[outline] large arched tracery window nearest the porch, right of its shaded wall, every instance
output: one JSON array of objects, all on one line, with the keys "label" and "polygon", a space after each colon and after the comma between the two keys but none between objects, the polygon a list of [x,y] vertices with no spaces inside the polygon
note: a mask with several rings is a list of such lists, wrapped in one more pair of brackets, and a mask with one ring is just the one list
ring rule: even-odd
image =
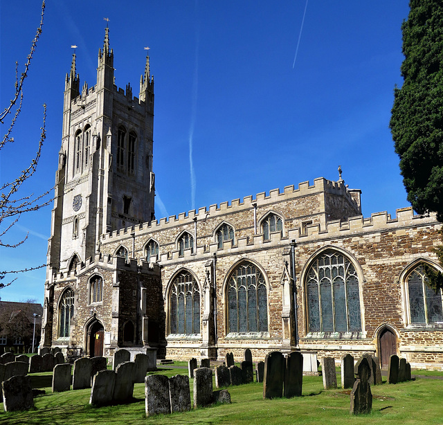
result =
[{"label": "large arched tracery window nearest the porch, right of its shaded wall", "polygon": [[200,290],[194,277],[182,271],[172,283],[169,298],[171,334],[200,333]]}]

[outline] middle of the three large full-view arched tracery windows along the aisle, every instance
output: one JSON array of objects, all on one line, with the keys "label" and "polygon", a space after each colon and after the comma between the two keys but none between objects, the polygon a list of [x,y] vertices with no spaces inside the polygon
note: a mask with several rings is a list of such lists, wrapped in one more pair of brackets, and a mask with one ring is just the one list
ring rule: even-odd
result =
[{"label": "middle of the three large full-view arched tracery windows along the aisle", "polygon": [[267,332],[266,282],[251,262],[242,262],[228,279],[229,332]]}]

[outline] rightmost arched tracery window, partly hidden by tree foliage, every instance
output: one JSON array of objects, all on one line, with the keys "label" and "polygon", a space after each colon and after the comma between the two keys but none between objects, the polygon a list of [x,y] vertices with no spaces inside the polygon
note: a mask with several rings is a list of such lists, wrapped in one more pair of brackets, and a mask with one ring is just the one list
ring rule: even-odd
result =
[{"label": "rightmost arched tracery window, partly hidden by tree foliage", "polygon": [[406,279],[410,323],[443,322],[442,291],[435,292],[428,287],[427,280],[422,265],[413,269]]}]

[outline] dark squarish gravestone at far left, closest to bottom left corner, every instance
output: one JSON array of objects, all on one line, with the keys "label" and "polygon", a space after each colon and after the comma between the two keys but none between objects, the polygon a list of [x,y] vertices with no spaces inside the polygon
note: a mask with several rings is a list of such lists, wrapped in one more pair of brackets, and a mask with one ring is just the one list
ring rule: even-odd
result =
[{"label": "dark squarish gravestone at far left, closest to bottom left corner", "polygon": [[3,388],[3,407],[6,412],[29,410],[34,407],[30,377],[11,377],[3,381],[1,387]]}]

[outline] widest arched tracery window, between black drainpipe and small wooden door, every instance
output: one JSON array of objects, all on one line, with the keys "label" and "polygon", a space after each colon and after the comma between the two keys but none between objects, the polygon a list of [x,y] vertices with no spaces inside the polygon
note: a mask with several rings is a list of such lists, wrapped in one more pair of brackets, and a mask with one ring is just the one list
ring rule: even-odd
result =
[{"label": "widest arched tracery window, between black drainpipe and small wooden door", "polygon": [[359,332],[359,277],[354,265],[332,249],[318,255],[306,279],[309,332]]}]

